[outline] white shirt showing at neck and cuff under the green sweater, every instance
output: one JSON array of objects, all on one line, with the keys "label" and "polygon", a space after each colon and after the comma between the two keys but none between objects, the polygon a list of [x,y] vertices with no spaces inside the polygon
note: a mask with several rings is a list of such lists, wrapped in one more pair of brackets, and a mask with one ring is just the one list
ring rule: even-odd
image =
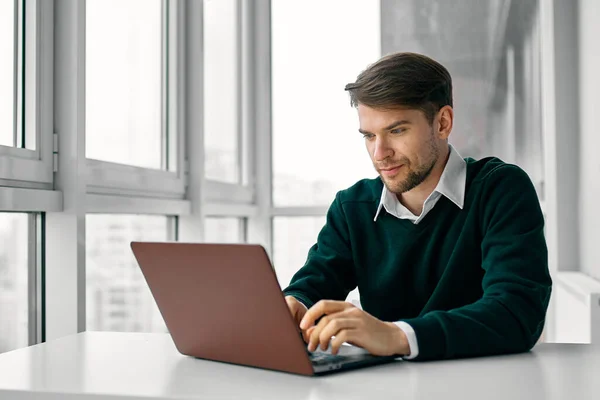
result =
[{"label": "white shirt showing at neck and cuff under the green sweater", "polygon": [[[429,197],[427,197],[425,203],[423,203],[421,214],[414,215],[408,208],[400,203],[400,200],[398,200],[398,197],[396,197],[394,193],[387,190],[387,187],[383,185],[381,200],[379,201],[377,213],[375,214],[373,221],[377,221],[381,209],[384,208],[390,215],[393,215],[396,218],[408,219],[413,221],[414,224],[418,224],[425,218],[427,213],[433,209],[442,195],[446,196],[448,200],[452,201],[462,210],[465,202],[465,188],[467,185],[467,163],[452,145],[449,145],[449,147],[450,155],[448,157],[448,162],[446,162],[446,166],[444,167],[444,171],[442,172],[442,176],[440,177],[437,186],[433,192],[431,192]],[[399,321],[395,324],[404,331],[408,340],[410,354],[404,358],[411,360],[417,357],[419,355],[419,343],[414,329],[404,321]]]}]

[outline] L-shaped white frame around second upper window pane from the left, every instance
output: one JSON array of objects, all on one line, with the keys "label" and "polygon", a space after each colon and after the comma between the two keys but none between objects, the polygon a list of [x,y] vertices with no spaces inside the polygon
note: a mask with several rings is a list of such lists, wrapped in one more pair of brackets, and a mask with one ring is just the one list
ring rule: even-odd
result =
[{"label": "L-shaped white frame around second upper window pane from the left", "polygon": [[[163,0],[163,170],[86,159],[87,192],[153,198],[183,199],[186,192],[186,162],[184,158],[184,35],[183,2]],[[83,21],[85,33],[85,21]],[[83,58],[85,64],[85,57]],[[168,101],[167,101],[168,98]],[[167,134],[168,132],[168,134]],[[168,139],[168,143],[166,140]],[[166,154],[167,148],[169,154]],[[172,160],[175,158],[176,162]],[[167,160],[168,164],[167,165]],[[172,169],[175,169],[174,171]]]}]

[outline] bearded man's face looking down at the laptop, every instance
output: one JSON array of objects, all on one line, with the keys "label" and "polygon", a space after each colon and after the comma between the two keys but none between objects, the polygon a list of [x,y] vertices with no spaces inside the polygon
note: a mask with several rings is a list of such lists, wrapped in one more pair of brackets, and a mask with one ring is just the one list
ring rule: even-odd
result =
[{"label": "bearded man's face looking down at the laptop", "polygon": [[373,166],[388,190],[408,192],[429,176],[441,145],[422,111],[359,104],[358,119]]}]

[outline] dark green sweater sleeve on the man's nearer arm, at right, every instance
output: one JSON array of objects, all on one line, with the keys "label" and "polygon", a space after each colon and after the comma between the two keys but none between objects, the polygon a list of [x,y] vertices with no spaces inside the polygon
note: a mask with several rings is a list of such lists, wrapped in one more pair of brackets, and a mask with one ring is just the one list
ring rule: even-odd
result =
[{"label": "dark green sweater sleeve on the man's nearer arm, at right", "polygon": [[404,320],[419,340],[416,360],[522,352],[541,335],[552,281],[533,184],[519,167],[498,167],[486,178],[480,204],[483,296]]}]

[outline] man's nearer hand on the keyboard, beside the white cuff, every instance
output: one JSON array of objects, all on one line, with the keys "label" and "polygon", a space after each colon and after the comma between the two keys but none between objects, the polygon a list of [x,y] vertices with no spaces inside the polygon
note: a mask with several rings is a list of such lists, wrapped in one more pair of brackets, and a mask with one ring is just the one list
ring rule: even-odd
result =
[{"label": "man's nearer hand on the keyboard, beside the white cuff", "polygon": [[[323,318],[314,325],[321,316]],[[300,328],[307,332],[310,351],[319,345],[326,350],[331,342],[331,352],[337,354],[342,343],[348,342],[376,356],[410,353],[406,335],[395,324],[381,321],[343,301],[319,301],[305,313]],[[333,340],[332,336],[335,336]]]}]

